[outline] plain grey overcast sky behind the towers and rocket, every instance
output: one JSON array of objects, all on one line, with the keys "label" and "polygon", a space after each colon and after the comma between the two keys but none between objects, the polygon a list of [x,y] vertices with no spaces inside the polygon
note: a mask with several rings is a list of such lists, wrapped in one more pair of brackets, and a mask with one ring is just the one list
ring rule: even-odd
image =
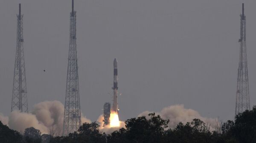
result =
[{"label": "plain grey overcast sky behind the towers and rocket", "polygon": [[[117,58],[122,120],[174,104],[205,117],[233,119],[243,2],[253,106],[256,0],[75,0],[81,112],[95,121],[103,104],[112,102]],[[71,0],[0,0],[0,112],[5,115],[11,110],[18,3],[24,14],[29,110],[41,101],[65,99]]]}]

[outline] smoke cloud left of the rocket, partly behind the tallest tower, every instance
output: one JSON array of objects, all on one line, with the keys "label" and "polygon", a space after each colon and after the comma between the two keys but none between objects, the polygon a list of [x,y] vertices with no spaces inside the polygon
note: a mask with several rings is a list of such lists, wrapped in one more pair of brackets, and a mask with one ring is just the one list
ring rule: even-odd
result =
[{"label": "smoke cloud left of the rocket, partly behind the tallest tower", "polygon": [[[35,104],[31,113],[13,111],[9,117],[0,114],[0,121],[11,129],[23,132],[24,129],[33,126],[42,134],[61,135],[64,118],[64,105],[60,101],[44,101]],[[81,115],[82,123],[91,121]]]}]

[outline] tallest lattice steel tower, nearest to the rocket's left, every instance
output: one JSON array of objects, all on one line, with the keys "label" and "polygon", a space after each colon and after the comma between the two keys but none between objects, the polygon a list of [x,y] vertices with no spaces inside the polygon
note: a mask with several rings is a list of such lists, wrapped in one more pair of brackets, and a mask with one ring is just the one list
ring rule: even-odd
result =
[{"label": "tallest lattice steel tower, nearest to the rocket's left", "polygon": [[74,11],[74,0],[72,0],[63,135],[68,135],[71,132],[77,131],[80,126],[81,111],[76,55],[76,11]]}]

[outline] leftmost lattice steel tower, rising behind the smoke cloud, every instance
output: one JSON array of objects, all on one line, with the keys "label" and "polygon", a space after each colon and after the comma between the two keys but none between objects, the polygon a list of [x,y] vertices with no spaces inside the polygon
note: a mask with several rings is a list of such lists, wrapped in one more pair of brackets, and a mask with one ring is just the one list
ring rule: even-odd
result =
[{"label": "leftmost lattice steel tower, rising behind the smoke cloud", "polygon": [[19,4],[11,112],[16,109],[20,112],[28,112],[23,42],[23,14],[21,14],[21,5]]}]

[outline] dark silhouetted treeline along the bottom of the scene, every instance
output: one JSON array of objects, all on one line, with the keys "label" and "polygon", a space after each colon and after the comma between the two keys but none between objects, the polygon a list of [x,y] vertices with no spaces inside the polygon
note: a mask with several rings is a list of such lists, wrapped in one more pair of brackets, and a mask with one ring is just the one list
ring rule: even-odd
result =
[{"label": "dark silhouetted treeline along the bottom of the scene", "polygon": [[106,135],[99,131],[95,122],[84,123],[78,132],[66,137],[41,135],[38,129],[27,128],[24,134],[9,129],[0,122],[1,143],[256,143],[256,107],[236,116],[210,131],[199,119],[179,123],[175,129],[168,128],[168,120],[149,114],[125,121],[125,128]]}]

